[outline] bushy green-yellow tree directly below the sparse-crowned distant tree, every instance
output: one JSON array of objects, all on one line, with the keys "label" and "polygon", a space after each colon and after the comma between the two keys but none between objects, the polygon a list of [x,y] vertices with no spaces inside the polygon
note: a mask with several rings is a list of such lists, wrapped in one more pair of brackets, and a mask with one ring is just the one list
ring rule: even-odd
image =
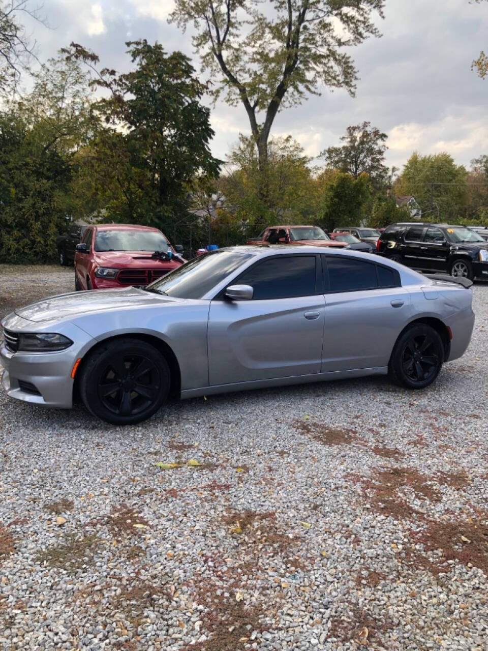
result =
[{"label": "bushy green-yellow tree directly below the sparse-crowned distant tree", "polygon": [[328,232],[340,226],[357,226],[370,202],[371,187],[367,174],[352,174],[332,169],[318,176],[321,197],[318,216]]}]

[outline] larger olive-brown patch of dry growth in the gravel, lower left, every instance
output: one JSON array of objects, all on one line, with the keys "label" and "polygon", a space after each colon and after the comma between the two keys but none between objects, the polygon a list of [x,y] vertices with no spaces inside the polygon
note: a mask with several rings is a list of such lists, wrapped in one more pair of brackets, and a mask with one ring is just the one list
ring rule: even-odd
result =
[{"label": "larger olive-brown patch of dry growth in the gravel, lower left", "polygon": [[61,545],[41,551],[36,562],[46,563],[51,568],[80,570],[84,566],[93,564],[94,557],[102,546],[103,542],[96,534],[88,534],[81,538],[75,534],[67,534]]}]

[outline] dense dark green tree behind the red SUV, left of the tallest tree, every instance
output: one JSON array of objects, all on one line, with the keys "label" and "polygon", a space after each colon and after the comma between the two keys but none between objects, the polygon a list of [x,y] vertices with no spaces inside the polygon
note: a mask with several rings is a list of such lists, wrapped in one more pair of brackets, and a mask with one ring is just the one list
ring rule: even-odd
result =
[{"label": "dense dark green tree behind the red SUV, left of the tallest tree", "polygon": [[205,87],[181,52],[158,43],[126,43],[135,70],[98,71],[98,57],[77,44],[68,61],[85,61],[94,84],[108,96],[94,104],[106,128],[92,143],[90,170],[106,179],[107,217],[161,227],[184,214],[195,177],[215,178],[210,110],[200,103]]}]

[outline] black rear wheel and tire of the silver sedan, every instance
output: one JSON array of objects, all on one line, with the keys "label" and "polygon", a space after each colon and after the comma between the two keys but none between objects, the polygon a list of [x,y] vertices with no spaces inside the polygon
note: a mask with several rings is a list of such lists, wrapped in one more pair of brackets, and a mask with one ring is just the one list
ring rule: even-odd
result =
[{"label": "black rear wheel and tire of the silver sedan", "polygon": [[407,389],[424,389],[437,378],[443,363],[444,346],[437,330],[413,324],[396,340],[388,368],[396,383]]}]

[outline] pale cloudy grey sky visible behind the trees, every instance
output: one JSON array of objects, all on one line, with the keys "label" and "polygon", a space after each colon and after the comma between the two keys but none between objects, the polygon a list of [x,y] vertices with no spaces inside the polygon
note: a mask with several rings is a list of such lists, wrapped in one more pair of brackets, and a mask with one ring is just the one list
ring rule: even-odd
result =
[{"label": "pale cloudy grey sky visible behind the trees", "polygon": [[[124,70],[124,42],[158,40],[165,49],[195,57],[191,36],[167,23],[172,0],[44,0],[49,29],[29,25],[45,60],[71,41],[93,49],[103,66]],[[401,167],[413,152],[448,151],[469,165],[488,154],[488,78],[470,70],[488,50],[488,2],[386,0],[382,38],[353,51],[359,70],[355,98],[324,89],[299,107],[280,113],[274,135],[292,135],[309,156],[339,143],[350,124],[369,120],[388,133],[388,165]],[[195,57],[195,67],[200,66]],[[249,133],[241,107],[212,110],[213,153],[224,158],[239,132]]]}]

